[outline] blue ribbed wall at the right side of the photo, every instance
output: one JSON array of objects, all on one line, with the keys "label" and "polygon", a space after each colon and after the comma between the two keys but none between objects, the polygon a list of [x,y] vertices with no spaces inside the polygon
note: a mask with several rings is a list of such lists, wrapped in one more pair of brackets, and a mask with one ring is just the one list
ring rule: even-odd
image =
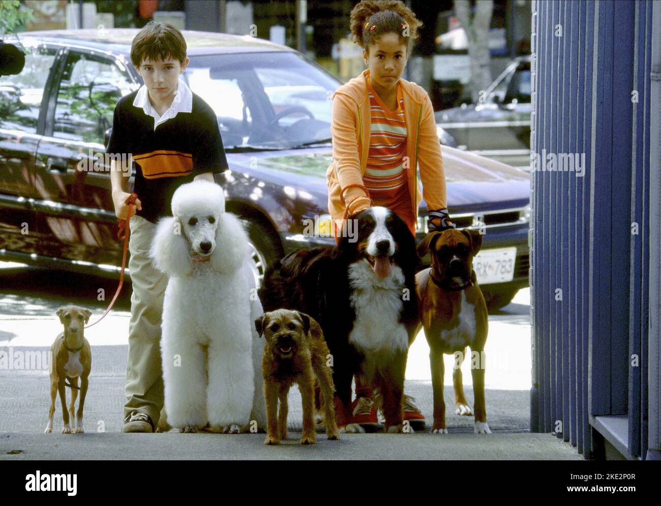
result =
[{"label": "blue ribbed wall at the right side of the photo", "polygon": [[537,1],[532,26],[531,150],[585,166],[531,171],[531,430],[593,457],[621,415],[644,458],[652,1]]}]

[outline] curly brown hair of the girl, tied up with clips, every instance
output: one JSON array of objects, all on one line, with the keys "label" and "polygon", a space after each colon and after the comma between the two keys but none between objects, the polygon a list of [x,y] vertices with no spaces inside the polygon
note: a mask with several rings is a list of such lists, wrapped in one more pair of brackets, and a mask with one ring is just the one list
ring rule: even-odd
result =
[{"label": "curly brown hair of the girl, tied up with clips", "polygon": [[377,38],[394,33],[406,44],[408,54],[410,42],[418,36],[420,26],[422,22],[399,0],[363,0],[351,11],[354,42],[366,51]]}]

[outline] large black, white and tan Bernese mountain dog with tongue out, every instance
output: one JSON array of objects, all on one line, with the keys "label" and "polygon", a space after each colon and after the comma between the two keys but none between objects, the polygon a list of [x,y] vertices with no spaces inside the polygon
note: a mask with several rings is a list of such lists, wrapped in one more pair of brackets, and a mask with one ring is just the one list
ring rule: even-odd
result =
[{"label": "large black, white and tan Bernese mountain dog with tongue out", "polygon": [[276,261],[259,296],[265,312],[295,309],[321,325],[332,356],[338,426],[350,421],[356,374],[383,399],[386,431],[402,431],[408,346],[419,321],[416,243],[388,208],[374,206],[350,219],[357,220],[357,234]]}]

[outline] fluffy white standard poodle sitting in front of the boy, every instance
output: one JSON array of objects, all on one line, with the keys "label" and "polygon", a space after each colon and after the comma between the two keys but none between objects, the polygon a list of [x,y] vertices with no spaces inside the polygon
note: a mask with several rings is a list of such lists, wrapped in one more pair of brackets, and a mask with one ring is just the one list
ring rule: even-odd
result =
[{"label": "fluffy white standard poodle sitting in front of the boy", "polygon": [[[169,276],[161,354],[167,424],[181,432],[239,433],[265,427],[261,348],[253,322],[262,305],[248,236],[225,212],[223,189],[193,181],[176,189],[173,217],[159,220],[151,245]],[[159,424],[160,425],[160,424]]]}]

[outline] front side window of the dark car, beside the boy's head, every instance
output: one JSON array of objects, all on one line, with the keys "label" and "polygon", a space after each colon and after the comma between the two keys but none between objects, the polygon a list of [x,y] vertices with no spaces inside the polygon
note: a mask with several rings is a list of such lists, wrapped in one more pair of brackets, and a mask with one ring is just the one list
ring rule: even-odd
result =
[{"label": "front side window of the dark car, beside the boy's head", "polygon": [[59,82],[54,137],[102,144],[117,101],[136,87],[118,62],[69,53]]}]

